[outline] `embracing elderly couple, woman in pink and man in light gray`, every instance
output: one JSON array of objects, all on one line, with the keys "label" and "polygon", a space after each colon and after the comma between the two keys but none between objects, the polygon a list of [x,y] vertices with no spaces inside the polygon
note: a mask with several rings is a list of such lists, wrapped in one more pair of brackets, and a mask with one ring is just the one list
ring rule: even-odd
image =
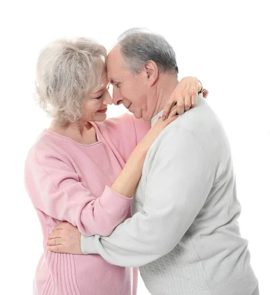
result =
[{"label": "embracing elderly couple, woman in pink and man in light gray", "polygon": [[[36,295],[259,295],[240,236],[226,133],[173,48],[141,29],[105,47],[46,46],[40,106],[51,117],[25,183],[43,232]],[[113,98],[108,92],[113,86]],[[109,104],[131,113],[106,119]]]}]

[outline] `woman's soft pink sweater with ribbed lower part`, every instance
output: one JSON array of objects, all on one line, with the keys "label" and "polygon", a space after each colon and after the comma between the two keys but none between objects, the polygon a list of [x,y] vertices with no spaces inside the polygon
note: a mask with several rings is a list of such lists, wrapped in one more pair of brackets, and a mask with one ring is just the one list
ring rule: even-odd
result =
[{"label": "woman's soft pink sweater with ribbed lower part", "polygon": [[[110,189],[150,124],[125,114],[93,123],[97,142],[82,145],[52,131],[41,133],[26,159],[25,183],[43,232],[35,295],[135,295],[137,269],[113,266],[99,255],[48,250],[60,221],[81,233],[109,236],[130,214],[131,199]],[[132,285],[133,281],[133,285]]]}]

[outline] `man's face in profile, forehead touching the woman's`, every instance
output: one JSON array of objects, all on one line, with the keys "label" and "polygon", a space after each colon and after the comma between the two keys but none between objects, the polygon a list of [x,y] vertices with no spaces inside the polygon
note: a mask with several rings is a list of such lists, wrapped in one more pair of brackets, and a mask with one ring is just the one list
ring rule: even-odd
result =
[{"label": "man's face in profile, forehead touching the woman's", "polygon": [[113,85],[113,102],[124,105],[135,118],[150,120],[147,115],[147,93],[149,85],[144,71],[134,76],[124,68],[120,47],[116,46],[107,59],[108,80]]}]

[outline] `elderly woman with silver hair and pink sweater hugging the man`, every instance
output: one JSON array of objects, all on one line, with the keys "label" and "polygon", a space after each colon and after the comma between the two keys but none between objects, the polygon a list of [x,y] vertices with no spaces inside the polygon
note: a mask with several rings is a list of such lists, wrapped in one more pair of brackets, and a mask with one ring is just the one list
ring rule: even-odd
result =
[{"label": "elderly woman with silver hair and pink sweater hugging the man", "polygon": [[[47,238],[60,221],[88,236],[110,235],[130,214],[150,145],[176,117],[151,129],[130,114],[105,120],[112,104],[106,50],[90,39],[48,45],[38,58],[36,83],[40,106],[53,119],[25,164],[26,188],[43,232],[34,294],[134,295],[136,269],[110,265],[99,255],[50,252]],[[180,92],[197,87],[195,78],[178,85]]]}]

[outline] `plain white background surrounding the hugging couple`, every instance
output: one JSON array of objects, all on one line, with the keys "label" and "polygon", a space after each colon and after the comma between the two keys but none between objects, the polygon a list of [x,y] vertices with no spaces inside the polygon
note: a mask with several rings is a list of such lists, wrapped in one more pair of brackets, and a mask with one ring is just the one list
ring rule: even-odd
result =
[{"label": "plain white background surrounding the hugging couple", "polygon": [[[41,229],[24,187],[24,159],[49,119],[35,105],[38,51],[59,37],[87,36],[110,49],[131,27],[163,34],[178,57],[179,78],[199,77],[233,151],[261,295],[270,294],[270,75],[268,1],[8,1],[0,22],[0,294],[31,294],[42,252]],[[112,106],[108,116],[125,112]],[[139,295],[146,295],[142,281]]]}]

